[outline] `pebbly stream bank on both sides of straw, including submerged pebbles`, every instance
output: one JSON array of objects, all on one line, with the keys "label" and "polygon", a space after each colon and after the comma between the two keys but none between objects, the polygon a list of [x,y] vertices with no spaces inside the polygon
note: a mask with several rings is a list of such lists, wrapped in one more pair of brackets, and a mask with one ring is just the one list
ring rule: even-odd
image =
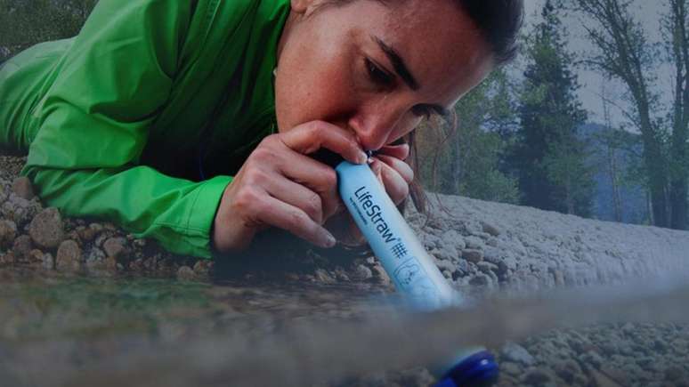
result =
[{"label": "pebbly stream bank on both sides of straw, including submerged pebbles", "polygon": [[[30,181],[18,176],[24,161],[0,157],[0,266],[192,281],[230,275],[322,284],[365,282],[391,289],[373,257],[326,254],[284,235],[278,236],[283,244],[259,243],[262,248],[248,252],[250,258],[227,262],[168,254],[155,241],[134,238],[109,222],[66,218],[55,208],[45,208]],[[434,206],[430,216],[409,208],[407,218],[443,275],[467,294],[614,284],[687,272],[689,267],[687,232],[437,198],[442,206]],[[265,238],[273,237],[278,238]],[[689,386],[689,327],[562,329],[508,343],[496,352],[504,386]],[[364,385],[425,385],[429,377],[417,370],[374,377]]]}]

